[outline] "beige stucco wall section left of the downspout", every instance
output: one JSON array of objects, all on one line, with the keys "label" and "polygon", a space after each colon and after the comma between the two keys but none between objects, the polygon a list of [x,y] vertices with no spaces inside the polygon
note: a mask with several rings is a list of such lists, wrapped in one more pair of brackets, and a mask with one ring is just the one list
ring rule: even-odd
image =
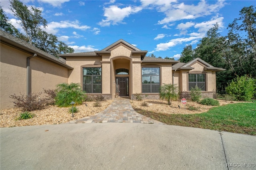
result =
[{"label": "beige stucco wall section left of the downspout", "polygon": [[13,106],[10,95],[26,94],[26,57],[30,56],[1,43],[0,109]]}]

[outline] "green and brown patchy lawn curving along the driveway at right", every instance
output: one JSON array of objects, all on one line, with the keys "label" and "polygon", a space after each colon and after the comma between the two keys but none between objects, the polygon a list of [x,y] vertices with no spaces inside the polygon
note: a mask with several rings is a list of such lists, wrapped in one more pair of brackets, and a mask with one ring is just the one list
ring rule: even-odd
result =
[{"label": "green and brown patchy lawn curving along the driveway at right", "polygon": [[256,103],[236,103],[214,107],[200,114],[163,114],[135,109],[136,112],[167,125],[207,128],[256,135]]}]

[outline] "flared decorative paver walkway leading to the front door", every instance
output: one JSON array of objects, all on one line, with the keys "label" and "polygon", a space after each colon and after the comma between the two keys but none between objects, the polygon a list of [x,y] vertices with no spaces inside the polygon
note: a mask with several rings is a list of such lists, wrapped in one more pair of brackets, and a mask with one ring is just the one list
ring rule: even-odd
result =
[{"label": "flared decorative paver walkway leading to the front door", "polygon": [[[151,119],[149,117],[140,115],[132,108],[130,99],[115,98],[114,101],[100,113],[70,121],[68,123],[164,123]],[[66,123],[65,123],[66,124]]]}]

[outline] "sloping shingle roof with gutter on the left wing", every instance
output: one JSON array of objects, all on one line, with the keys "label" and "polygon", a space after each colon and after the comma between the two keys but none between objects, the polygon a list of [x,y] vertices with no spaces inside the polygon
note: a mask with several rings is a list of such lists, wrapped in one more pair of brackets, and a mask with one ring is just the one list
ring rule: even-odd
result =
[{"label": "sloping shingle roof with gutter on the left wing", "polygon": [[30,43],[27,43],[19,38],[16,38],[16,37],[12,36],[11,34],[8,34],[2,30],[0,30],[0,37],[1,37],[0,40],[2,43],[5,43],[7,45],[12,45],[15,48],[21,49],[21,50],[26,51],[31,54],[36,53],[37,57],[46,59],[48,61],[51,61],[53,63],[56,63],[58,65],[66,67],[68,69],[73,69],[72,67],[70,67],[69,65],[67,65],[65,63],[65,60],[58,59],[57,57],[54,57],[53,55],[50,55],[50,54],[46,53],[45,51],[42,51],[41,49],[34,47]]}]

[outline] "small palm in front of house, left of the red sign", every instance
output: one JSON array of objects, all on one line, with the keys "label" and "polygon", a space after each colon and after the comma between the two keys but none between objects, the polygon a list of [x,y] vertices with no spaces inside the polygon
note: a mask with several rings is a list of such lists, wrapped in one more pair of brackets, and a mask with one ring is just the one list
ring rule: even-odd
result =
[{"label": "small palm in front of house, left of the red sign", "polygon": [[164,84],[160,87],[160,99],[168,101],[168,105],[172,104],[173,100],[178,99],[178,86],[176,84]]}]

